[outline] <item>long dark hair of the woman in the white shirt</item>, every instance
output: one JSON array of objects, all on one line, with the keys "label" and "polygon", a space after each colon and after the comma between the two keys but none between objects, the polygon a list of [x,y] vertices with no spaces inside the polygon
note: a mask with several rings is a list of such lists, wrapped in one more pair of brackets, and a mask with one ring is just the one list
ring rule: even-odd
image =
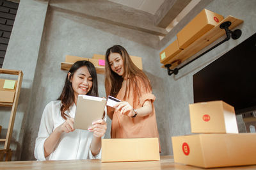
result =
[{"label": "long dark hair of the woman in the white shirt", "polygon": [[92,89],[90,89],[90,91],[88,91],[86,95],[99,97],[97,73],[96,73],[95,67],[90,61],[85,61],[85,60],[77,61],[76,63],[74,63],[74,65],[71,66],[70,70],[68,71],[68,73],[70,73],[70,76],[68,77],[68,74],[67,74],[63,90],[61,92],[60,97],[58,98],[58,100],[61,100],[61,104],[62,104],[60,107],[61,117],[64,118],[65,120],[67,120],[67,117],[69,117],[67,114],[65,114],[65,111],[67,111],[70,108],[70,106],[74,104],[74,101],[75,101],[74,90],[72,88],[72,82],[70,82],[70,80],[72,79],[76,70],[78,70],[82,66],[86,66],[88,68],[88,71],[92,76],[92,80],[93,80]]}]

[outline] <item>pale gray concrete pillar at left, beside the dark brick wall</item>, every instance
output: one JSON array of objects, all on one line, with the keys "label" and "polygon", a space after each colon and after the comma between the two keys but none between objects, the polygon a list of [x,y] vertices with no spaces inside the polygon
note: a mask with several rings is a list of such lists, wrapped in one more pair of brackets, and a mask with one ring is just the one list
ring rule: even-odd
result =
[{"label": "pale gray concrete pillar at left, beside the dark brick wall", "polygon": [[[12,35],[4,58],[3,68],[22,70],[24,73],[10,146],[13,150],[12,160],[20,160],[26,118],[28,116],[31,96],[33,96],[31,91],[44,29],[47,4],[47,1],[20,1]],[[17,79],[17,77],[8,75],[1,75],[1,77]],[[9,107],[0,107],[0,125],[3,127],[1,138],[6,137],[10,111],[11,109]]]}]

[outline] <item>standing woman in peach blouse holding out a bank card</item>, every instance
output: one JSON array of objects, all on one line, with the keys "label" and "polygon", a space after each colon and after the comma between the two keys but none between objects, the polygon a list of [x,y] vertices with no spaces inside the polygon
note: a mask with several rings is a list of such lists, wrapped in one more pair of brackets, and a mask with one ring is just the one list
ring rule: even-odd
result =
[{"label": "standing woman in peach blouse holding out a bank card", "polygon": [[155,96],[147,75],[120,45],[106,51],[106,95],[118,98],[108,107],[111,138],[159,137],[154,108]]}]

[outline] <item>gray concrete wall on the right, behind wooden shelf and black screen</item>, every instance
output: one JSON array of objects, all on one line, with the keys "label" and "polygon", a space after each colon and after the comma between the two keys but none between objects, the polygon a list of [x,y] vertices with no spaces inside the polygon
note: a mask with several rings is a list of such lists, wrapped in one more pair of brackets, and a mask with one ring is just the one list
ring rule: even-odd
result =
[{"label": "gray concrete wall on the right, behind wooden shelf and black screen", "polygon": [[[232,15],[238,19],[244,20],[244,23],[237,27],[243,31],[243,34],[238,40],[230,39],[228,42],[223,43],[216,49],[211,50],[211,52],[208,52],[193,63],[182,68],[178,75],[168,77],[166,73],[164,86],[166,89],[166,95],[169,96],[166,98],[168,105],[165,108],[168,111],[168,118],[166,118],[168,127],[166,127],[166,129],[169,129],[170,131],[166,134],[165,139],[168,144],[172,143],[170,138],[171,136],[191,134],[188,105],[193,103],[193,74],[204,68],[204,66],[209,65],[209,63],[219,58],[228,50],[246,40],[246,38],[256,33],[256,1],[214,0],[206,5],[203,1],[201,6],[197,6],[195,10],[188,14],[188,16],[184,17],[184,20],[182,20],[182,22],[180,22],[170,34],[176,35],[177,32],[182,29],[182,25],[186,25],[189,20],[193,19],[196,15],[195,11],[198,9],[201,10],[201,8],[207,8],[213,12],[220,13],[224,17]],[[161,50],[167,47],[168,44],[172,43],[175,38],[175,36],[167,35],[160,43]],[[223,38],[220,38],[216,42],[220,42]],[[204,50],[198,52],[198,54],[204,52]],[[237,116],[239,132],[244,132],[244,125],[241,119],[241,115]],[[172,154],[171,146],[168,147],[168,154]]]}]

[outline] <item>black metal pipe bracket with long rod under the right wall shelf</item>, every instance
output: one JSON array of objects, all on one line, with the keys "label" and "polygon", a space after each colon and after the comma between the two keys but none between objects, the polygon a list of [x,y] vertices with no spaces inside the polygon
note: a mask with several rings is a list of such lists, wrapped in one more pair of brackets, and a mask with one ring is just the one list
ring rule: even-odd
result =
[{"label": "black metal pipe bracket with long rod under the right wall shelf", "polygon": [[172,64],[167,64],[164,65],[167,68],[167,73],[168,75],[172,75],[173,73],[175,75],[177,75],[177,73],[179,73],[179,70],[181,68],[183,68],[186,65],[189,65],[190,63],[192,63],[193,61],[195,61],[196,59],[200,58],[201,56],[204,56],[204,54],[206,54],[207,52],[209,52],[212,49],[215,49],[216,47],[218,47],[219,45],[221,45],[221,43],[227,42],[230,38],[232,38],[233,40],[237,40],[238,38],[240,38],[240,36],[242,35],[242,31],[240,29],[236,29],[235,31],[231,31],[230,29],[228,29],[229,26],[231,26],[231,22],[230,21],[226,21],[223,22],[222,24],[220,24],[220,28],[221,29],[225,29],[226,31],[226,38],[224,40],[222,40],[221,42],[217,43],[216,45],[214,45],[213,47],[211,47],[211,49],[206,50],[205,52],[203,52],[202,54],[200,54],[199,56],[197,56],[196,58],[192,59],[191,61],[189,61],[188,63],[180,66],[179,68],[175,68],[174,70],[171,70],[170,67],[172,66]]}]

